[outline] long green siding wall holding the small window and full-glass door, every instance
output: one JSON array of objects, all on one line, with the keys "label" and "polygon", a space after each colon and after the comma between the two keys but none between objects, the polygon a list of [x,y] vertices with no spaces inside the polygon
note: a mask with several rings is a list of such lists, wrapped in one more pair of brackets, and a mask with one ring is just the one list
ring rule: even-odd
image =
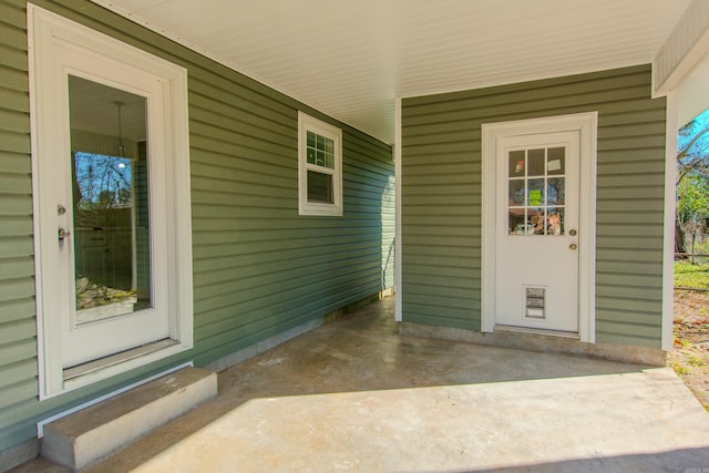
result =
[{"label": "long green siding wall holding the small window and full-glass door", "polygon": [[[38,419],[393,285],[389,145],[88,0],[33,2],[188,70],[195,349],[38,401],[25,3],[0,0],[0,451]],[[298,110],[342,127],[342,217],[298,216]]]}]

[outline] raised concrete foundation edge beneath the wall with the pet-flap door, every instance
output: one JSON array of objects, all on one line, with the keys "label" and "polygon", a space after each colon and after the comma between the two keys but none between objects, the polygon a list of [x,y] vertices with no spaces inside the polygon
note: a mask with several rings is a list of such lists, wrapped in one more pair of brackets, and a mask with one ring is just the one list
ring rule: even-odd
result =
[{"label": "raised concrete foundation edge beneath the wall with the pet-flap door", "polygon": [[427,326],[414,322],[401,322],[399,325],[399,333],[409,337],[434,338],[546,353],[576,354],[651,367],[664,367],[667,364],[667,352],[659,348],[587,343],[575,339],[538,333],[516,331],[483,333],[475,330]]}]

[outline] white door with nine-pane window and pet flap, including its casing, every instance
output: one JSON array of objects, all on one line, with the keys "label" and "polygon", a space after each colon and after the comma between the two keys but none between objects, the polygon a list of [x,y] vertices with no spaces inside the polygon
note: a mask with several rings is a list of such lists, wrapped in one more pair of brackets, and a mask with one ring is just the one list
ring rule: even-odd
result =
[{"label": "white door with nine-pane window and pet flap, including its casing", "polygon": [[482,125],[481,330],[595,342],[597,112]]}]

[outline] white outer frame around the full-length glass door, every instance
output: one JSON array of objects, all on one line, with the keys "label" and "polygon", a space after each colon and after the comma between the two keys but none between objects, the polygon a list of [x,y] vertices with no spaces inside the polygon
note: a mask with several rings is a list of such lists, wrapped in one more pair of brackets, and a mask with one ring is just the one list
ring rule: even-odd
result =
[{"label": "white outer frame around the full-length glass door", "polygon": [[[39,398],[44,400],[193,348],[187,71],[31,3],[28,4],[28,41]],[[156,117],[152,122],[160,126],[152,132],[152,136],[153,142],[160,143],[160,148],[154,150],[160,152],[153,154],[164,158],[160,160],[162,167],[153,167],[151,172],[155,171],[164,177],[165,195],[160,203],[165,217],[156,226],[163,227],[157,240],[167,248],[167,254],[161,265],[162,273],[154,273],[152,280],[155,285],[162,285],[161,289],[166,295],[158,309],[168,316],[169,339],[174,341],[161,350],[115,364],[102,364],[95,371],[88,370],[71,379],[64,379],[62,319],[56,310],[59,304],[69,304],[65,300],[66,291],[62,291],[59,286],[63,275],[55,270],[59,267],[56,200],[45,198],[51,196],[55,185],[53,182],[56,179],[53,175],[40,172],[43,168],[40,163],[42,160],[54,160],[56,156],[61,158],[70,150],[68,117],[56,113],[58,110],[66,110],[63,101],[69,100],[69,95],[64,93],[66,83],[63,79],[68,70],[62,69],[64,64],[58,58],[58,48],[121,63],[126,70],[156,81],[161,91],[161,106],[155,107]],[[153,163],[157,161],[154,158]],[[64,182],[70,182],[70,176],[64,177]],[[152,200],[151,205],[154,203]],[[155,215],[153,209],[151,214]],[[156,275],[160,277],[155,277]]]}]

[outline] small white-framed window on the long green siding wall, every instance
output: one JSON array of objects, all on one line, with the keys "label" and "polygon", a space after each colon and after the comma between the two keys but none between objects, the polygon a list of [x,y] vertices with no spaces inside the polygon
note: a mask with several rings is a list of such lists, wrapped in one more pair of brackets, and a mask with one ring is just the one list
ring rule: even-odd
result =
[{"label": "small white-framed window on the long green siding wall", "polygon": [[298,112],[300,215],[342,215],[342,131]]}]

